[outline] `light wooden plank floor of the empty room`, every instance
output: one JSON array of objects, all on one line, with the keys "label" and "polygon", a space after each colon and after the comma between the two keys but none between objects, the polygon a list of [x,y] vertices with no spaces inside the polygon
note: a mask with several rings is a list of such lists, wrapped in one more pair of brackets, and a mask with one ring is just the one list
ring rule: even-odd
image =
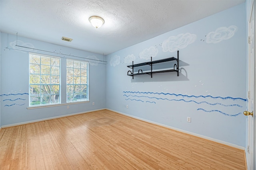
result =
[{"label": "light wooden plank floor of the empty room", "polygon": [[244,151],[108,110],[4,128],[1,170],[245,170]]}]

